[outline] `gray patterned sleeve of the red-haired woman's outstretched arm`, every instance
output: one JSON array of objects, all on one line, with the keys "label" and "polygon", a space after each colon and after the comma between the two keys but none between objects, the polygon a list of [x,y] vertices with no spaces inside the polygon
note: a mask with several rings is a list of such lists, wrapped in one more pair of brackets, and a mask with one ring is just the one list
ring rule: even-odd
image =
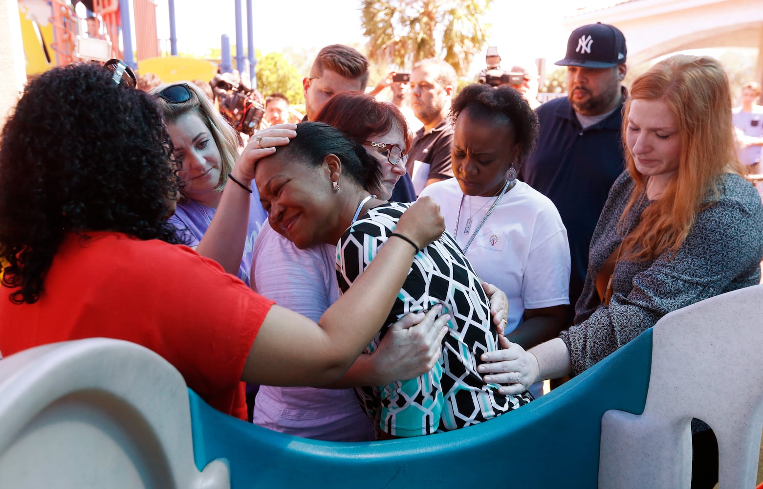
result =
[{"label": "gray patterned sleeve of the red-haired woman's outstretched arm", "polygon": [[[750,211],[723,199],[697,215],[675,256],[666,252],[651,264],[618,263],[613,283],[625,282],[615,283],[610,305],[597,307],[591,317],[560,335],[572,372],[604,359],[672,310],[758,283],[761,246],[759,208]],[[628,287],[627,294],[618,293]]]}]

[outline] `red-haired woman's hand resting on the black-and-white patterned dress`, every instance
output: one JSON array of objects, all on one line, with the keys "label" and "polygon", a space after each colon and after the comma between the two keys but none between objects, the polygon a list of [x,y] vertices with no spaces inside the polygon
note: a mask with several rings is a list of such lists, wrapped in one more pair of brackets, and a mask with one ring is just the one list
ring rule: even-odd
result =
[{"label": "red-haired woman's hand resting on the black-and-white patterned dress", "polygon": [[538,360],[517,343],[511,343],[505,336],[498,336],[502,349],[484,353],[480,359],[485,362],[477,367],[485,375],[485,382],[505,384],[498,389],[501,394],[520,394],[539,377]]}]

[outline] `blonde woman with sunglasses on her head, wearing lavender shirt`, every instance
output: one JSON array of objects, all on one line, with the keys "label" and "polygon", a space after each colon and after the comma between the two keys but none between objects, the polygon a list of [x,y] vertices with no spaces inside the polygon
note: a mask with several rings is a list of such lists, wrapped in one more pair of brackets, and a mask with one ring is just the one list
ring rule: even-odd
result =
[{"label": "blonde woman with sunglasses on her head, wearing lavender shirt", "polygon": [[[239,155],[243,146],[240,135],[214,108],[201,88],[192,82],[159,85],[150,92],[156,95],[169,135],[175,159],[181,163],[181,196],[177,211],[169,220],[188,238],[188,245],[201,256],[220,263],[226,272],[250,283],[250,264],[254,240],[268,216],[259,203],[259,194],[247,167],[252,165],[250,151],[262,147],[262,138],[271,143],[294,131],[287,126],[272,127],[258,133]],[[275,138],[274,138],[275,137]],[[237,192],[234,212],[223,219],[213,217],[223,198],[223,190],[232,183]],[[240,187],[240,188],[238,188]],[[243,197],[243,198],[242,198]]]}]

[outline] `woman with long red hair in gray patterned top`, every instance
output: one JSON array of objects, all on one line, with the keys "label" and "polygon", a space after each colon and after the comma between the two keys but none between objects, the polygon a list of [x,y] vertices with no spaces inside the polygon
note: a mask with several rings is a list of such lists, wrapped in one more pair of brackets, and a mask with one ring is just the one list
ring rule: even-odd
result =
[{"label": "woman with long red hair in gray patterned top", "polygon": [[[523,391],[577,375],[672,310],[760,281],[763,208],[734,150],[729,82],[705,56],[671,56],[639,76],[625,105],[626,171],[591,240],[575,326],[529,352],[508,345],[483,360],[489,381]],[[717,481],[717,445],[692,422],[692,487]]]}]

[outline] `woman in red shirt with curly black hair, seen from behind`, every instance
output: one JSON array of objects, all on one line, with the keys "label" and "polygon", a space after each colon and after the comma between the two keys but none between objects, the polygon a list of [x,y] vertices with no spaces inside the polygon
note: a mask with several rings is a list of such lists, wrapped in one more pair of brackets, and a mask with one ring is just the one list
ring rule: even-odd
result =
[{"label": "woman in red shirt with curly black hair, seen from behind", "polygon": [[[156,101],[116,68],[78,63],[43,73],[3,128],[0,351],[127,339],[163,355],[201,397],[239,417],[241,380],[340,378],[384,322],[413,260],[410,244],[390,240],[318,323],[262,298],[217,262],[176,246],[167,222],[179,188],[169,134]],[[275,149],[249,151],[254,164]],[[233,192],[250,180],[227,185],[220,205],[235,204]],[[443,218],[433,201],[421,201],[398,231],[426,246],[443,232]],[[435,314],[419,327],[439,332]]]}]

